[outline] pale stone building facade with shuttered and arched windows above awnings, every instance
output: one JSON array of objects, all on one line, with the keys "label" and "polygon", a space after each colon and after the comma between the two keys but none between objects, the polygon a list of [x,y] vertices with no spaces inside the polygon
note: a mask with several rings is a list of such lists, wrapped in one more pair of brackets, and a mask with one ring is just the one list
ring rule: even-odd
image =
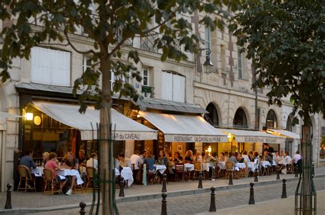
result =
[{"label": "pale stone building facade with shuttered and arched windows above awnings", "polygon": [[[179,108],[178,111],[170,110],[169,113],[202,114],[214,127],[259,131],[262,131],[263,127],[268,127],[300,134],[302,122],[300,120],[299,125],[291,125],[292,106],[288,99],[283,99],[282,107],[269,106],[267,89],[256,92],[252,88],[254,81],[252,67],[250,61],[245,58],[245,53],[240,53],[241,47],[236,45],[237,38],[232,36],[227,28],[224,31],[219,29],[210,31],[204,25],[200,25],[198,23],[200,14],[184,17],[192,23],[193,32],[202,38],[201,48],[211,50],[213,73],[204,73],[202,66],[206,57],[204,51],[199,55],[185,52],[188,57],[186,61],[161,62],[161,52],[154,47],[158,32],[153,31],[148,36],[128,41],[122,48],[122,51],[136,49],[139,52],[140,62],[136,66],[143,75],[141,82],[135,79],[125,81],[130,81],[148,103],[149,101],[165,105],[168,103]],[[12,22],[14,20],[0,23],[0,29]],[[38,27],[40,26],[33,26],[34,29]],[[83,35],[81,30],[79,34],[71,35],[71,41],[78,49],[92,46],[91,40]],[[181,46],[178,48],[184,50]],[[34,47],[30,60],[14,60],[10,71],[11,79],[0,85],[0,111],[23,116],[30,102],[35,99],[77,101],[71,94],[73,82],[86,70],[88,63],[87,56],[76,53],[70,47],[60,45]],[[115,78],[112,74],[112,81]],[[189,111],[191,108],[193,111]],[[204,114],[202,109],[208,114]],[[164,112],[161,108],[151,110]],[[26,139],[24,119],[12,116],[0,118],[1,192],[5,190],[5,185],[13,180],[19,153],[27,147],[24,144]],[[317,162],[320,144],[319,116],[317,114],[311,116],[311,121],[313,160]],[[280,144],[279,149],[289,151],[293,155],[300,149],[300,140],[288,139],[284,144]],[[184,146],[186,146],[184,149],[192,147],[204,150],[203,144],[184,144]],[[125,141],[124,148],[125,154],[129,156],[136,149],[136,144],[134,141]],[[250,149],[261,151],[261,144],[256,144]]]}]

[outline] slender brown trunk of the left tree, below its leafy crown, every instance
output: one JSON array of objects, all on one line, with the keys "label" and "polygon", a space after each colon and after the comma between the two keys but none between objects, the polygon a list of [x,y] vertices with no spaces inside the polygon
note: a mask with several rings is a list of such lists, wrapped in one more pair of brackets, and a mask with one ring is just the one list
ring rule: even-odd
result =
[{"label": "slender brown trunk of the left tree, below its leafy crown", "polygon": [[113,205],[113,189],[115,184],[112,183],[112,141],[110,125],[112,97],[110,90],[110,62],[105,58],[101,59],[100,71],[102,74],[102,99],[100,110],[100,156],[101,156],[101,203],[102,214],[115,214]]}]

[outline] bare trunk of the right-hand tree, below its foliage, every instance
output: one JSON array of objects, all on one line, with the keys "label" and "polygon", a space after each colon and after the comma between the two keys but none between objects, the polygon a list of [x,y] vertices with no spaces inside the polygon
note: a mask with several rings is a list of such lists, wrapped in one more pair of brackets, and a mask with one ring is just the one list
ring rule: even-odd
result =
[{"label": "bare trunk of the right-hand tree, below its foliage", "polygon": [[[305,123],[304,123],[305,124]],[[312,214],[312,177],[311,177],[311,127],[307,124],[302,126],[302,214]]]}]

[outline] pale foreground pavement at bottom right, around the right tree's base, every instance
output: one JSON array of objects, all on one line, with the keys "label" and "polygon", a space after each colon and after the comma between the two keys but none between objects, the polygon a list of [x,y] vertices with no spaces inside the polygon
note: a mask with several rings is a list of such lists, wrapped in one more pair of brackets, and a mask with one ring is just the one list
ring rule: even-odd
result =
[{"label": "pale foreground pavement at bottom right, around the right tree's base", "polygon": [[[317,212],[322,214],[325,212],[325,190],[317,191]],[[230,207],[224,210],[218,210],[214,213],[203,213],[200,215],[218,214],[241,214],[241,215],[252,215],[256,213],[263,213],[263,215],[291,215],[295,212],[295,198],[288,197],[287,199],[276,199],[272,201],[263,201],[256,203],[255,205],[243,205],[239,207]]]}]

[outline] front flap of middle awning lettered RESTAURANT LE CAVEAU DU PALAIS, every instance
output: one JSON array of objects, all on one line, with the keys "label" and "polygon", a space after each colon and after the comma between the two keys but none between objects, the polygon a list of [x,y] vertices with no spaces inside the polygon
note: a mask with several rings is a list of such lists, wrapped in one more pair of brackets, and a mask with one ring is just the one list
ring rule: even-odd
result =
[{"label": "front flap of middle awning lettered RESTAURANT LE CAVEAU DU PALAIS", "polygon": [[165,142],[228,142],[227,136],[193,136],[165,134]]}]

